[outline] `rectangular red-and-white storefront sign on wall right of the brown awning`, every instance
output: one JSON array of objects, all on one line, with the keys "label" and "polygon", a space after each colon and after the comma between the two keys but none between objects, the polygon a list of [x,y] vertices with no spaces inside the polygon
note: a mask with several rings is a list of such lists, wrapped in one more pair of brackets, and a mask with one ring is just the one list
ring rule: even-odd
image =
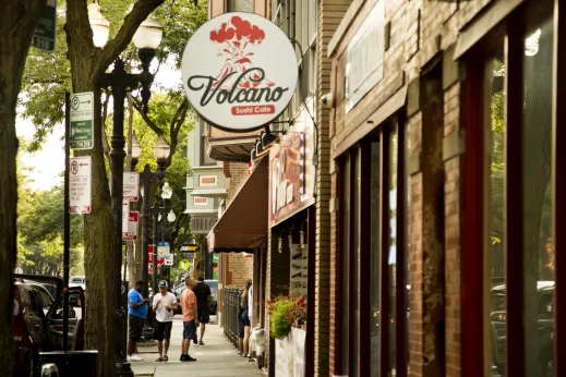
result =
[{"label": "rectangular red-and-white storefront sign on wall right of the brown awning", "polygon": [[270,227],[314,204],[313,137],[314,125],[303,109],[287,134],[269,150]]}]

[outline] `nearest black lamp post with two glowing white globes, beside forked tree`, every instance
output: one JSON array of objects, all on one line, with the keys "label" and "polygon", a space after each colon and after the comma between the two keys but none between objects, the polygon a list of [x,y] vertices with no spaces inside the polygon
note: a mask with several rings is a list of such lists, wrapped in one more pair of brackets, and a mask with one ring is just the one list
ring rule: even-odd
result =
[{"label": "nearest black lamp post with two glowing white globes, beside forked tree", "polygon": [[[93,29],[93,42],[97,48],[104,48],[108,40],[109,23],[100,12],[100,5],[96,0],[88,5],[88,21]],[[142,25],[144,25],[142,27]],[[122,195],[123,195],[123,171],[125,158],[125,137],[124,137],[124,99],[128,90],[136,89],[142,86],[141,95],[143,110],[147,112],[149,101],[149,86],[154,75],[149,73],[149,63],[155,56],[155,49],[161,41],[161,27],[159,22],[149,16],[136,31],[134,45],[139,49],[139,57],[142,61],[143,71],[141,73],[128,73],[124,70],[124,62],[118,58],[110,73],[104,73],[100,77],[100,87],[110,88],[113,98],[113,130],[110,139],[110,160],[112,165],[111,178],[111,204],[112,218],[115,222],[112,250],[115,254],[115,279],[120,282],[122,267]],[[159,29],[159,31],[158,31]],[[127,362],[127,312],[121,307],[122,284],[116,287],[116,341],[115,341],[115,363],[116,376],[132,376],[133,372]]]}]

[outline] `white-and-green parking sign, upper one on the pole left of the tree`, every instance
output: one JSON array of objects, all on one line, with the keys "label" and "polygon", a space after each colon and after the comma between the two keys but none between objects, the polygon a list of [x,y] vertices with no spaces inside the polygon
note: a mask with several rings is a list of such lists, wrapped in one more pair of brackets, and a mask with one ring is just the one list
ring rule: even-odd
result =
[{"label": "white-and-green parking sign, upper one on the pole left of the tree", "polygon": [[94,93],[71,95],[71,149],[92,149],[94,146]]}]

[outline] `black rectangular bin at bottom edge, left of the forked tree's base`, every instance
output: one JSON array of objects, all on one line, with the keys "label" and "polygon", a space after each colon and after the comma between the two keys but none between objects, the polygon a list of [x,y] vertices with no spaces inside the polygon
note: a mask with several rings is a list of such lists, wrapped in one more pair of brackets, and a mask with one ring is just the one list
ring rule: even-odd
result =
[{"label": "black rectangular bin at bottom edge, left of the forked tree's base", "polygon": [[59,377],[97,377],[98,351],[40,352],[41,365],[55,364]]}]

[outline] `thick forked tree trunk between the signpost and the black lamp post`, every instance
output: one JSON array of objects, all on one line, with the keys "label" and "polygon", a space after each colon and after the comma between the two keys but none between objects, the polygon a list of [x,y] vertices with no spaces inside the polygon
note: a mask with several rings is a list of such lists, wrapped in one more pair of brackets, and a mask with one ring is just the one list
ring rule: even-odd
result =
[{"label": "thick forked tree trunk between the signpost and the black lamp post", "polygon": [[[137,0],[113,39],[104,49],[93,44],[88,23],[87,2],[67,1],[67,42],[71,62],[73,92],[94,93],[94,147],[76,155],[92,157],[92,211],[84,216],[86,291],[86,349],[98,351],[98,370],[101,376],[112,376],[115,369],[115,326],[117,318],[116,294],[119,281],[115,277],[112,251],[113,219],[110,190],[106,174],[100,120],[100,78],[107,68],[125,49],[137,26],[164,0]],[[121,258],[120,254],[120,258]],[[125,329],[124,329],[125,331]]]}]

